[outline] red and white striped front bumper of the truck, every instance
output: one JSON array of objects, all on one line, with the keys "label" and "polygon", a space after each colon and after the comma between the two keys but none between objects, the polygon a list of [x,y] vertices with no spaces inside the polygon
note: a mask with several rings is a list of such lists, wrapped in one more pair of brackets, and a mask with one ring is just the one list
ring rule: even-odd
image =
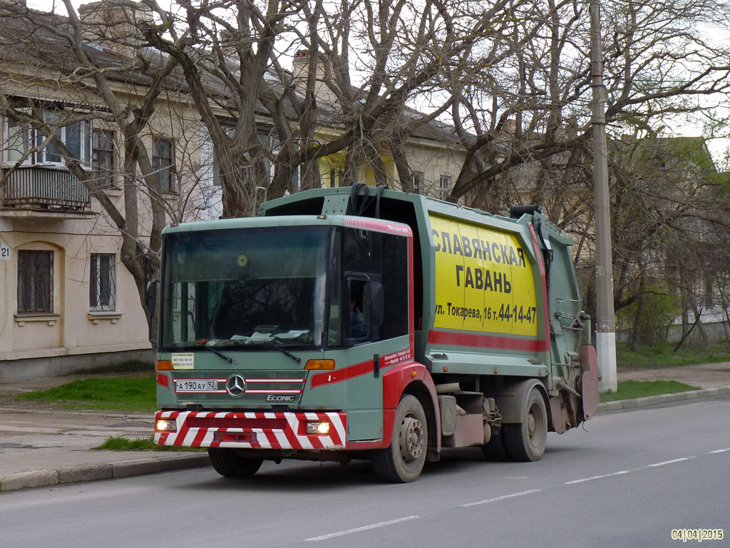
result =
[{"label": "red and white striped front bumper of the truck", "polygon": [[[155,444],[234,449],[345,449],[347,414],[158,411],[174,420],[177,432],[155,431]],[[328,435],[307,435],[307,422],[329,422]]]}]

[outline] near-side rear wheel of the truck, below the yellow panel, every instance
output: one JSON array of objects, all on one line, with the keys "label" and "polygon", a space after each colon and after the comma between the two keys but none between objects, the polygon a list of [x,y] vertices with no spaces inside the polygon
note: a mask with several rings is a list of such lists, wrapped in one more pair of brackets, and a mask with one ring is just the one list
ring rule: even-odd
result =
[{"label": "near-side rear wheel of the truck, below the yellow panel", "polygon": [[540,460],[548,441],[548,411],[536,388],[531,389],[525,404],[525,420],[518,425],[502,425],[504,449],[512,460],[523,463]]}]

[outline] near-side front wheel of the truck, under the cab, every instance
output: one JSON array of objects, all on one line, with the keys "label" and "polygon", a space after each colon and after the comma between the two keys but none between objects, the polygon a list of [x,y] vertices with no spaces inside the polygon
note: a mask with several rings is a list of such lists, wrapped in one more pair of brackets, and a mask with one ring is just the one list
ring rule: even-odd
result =
[{"label": "near-side front wheel of the truck, under the cab", "polygon": [[391,445],[372,454],[375,474],[385,482],[408,483],[418,479],[429,449],[426,413],[418,398],[404,395],[396,408]]}]

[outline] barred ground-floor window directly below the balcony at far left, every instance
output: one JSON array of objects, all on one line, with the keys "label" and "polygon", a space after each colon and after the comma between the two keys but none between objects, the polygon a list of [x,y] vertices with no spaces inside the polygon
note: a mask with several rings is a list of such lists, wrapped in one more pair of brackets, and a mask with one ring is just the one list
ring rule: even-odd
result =
[{"label": "barred ground-floor window directly below the balcony at far left", "polygon": [[18,313],[53,312],[53,251],[18,251]]}]

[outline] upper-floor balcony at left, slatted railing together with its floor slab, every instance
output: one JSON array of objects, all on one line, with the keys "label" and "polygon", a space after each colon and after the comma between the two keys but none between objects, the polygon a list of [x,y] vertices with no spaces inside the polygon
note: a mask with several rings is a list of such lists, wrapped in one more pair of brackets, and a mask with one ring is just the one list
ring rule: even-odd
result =
[{"label": "upper-floor balcony at left, slatted railing together with its floor slab", "polygon": [[0,189],[0,216],[13,218],[88,218],[91,197],[65,170],[23,167],[8,175]]}]

